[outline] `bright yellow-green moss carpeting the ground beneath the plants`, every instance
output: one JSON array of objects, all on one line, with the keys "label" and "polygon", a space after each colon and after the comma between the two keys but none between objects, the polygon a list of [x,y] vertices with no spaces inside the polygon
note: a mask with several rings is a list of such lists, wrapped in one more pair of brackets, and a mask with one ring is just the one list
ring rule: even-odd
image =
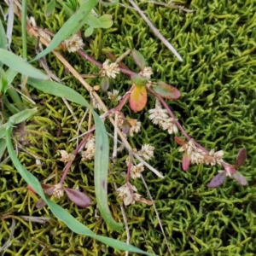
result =
[{"label": "bright yellow-green moss carpeting the ground beneath the plants", "polygon": [[[32,12],[29,15],[35,16],[38,26],[56,32],[65,21],[63,11],[55,11],[54,16],[45,19],[45,4],[41,2],[31,1]],[[139,3],[155,26],[183,56],[183,62],[177,61],[154,37],[135,10],[121,6],[102,9],[102,14],[113,15],[114,25],[109,30],[96,30],[93,34],[94,43],[86,43],[87,53],[96,55],[99,61],[106,59],[105,53],[108,51],[119,56],[126,49],[140,50],[148,65],[153,67],[154,79],[166,81],[182,91],[180,100],[168,103],[191,137],[206,148],[224,149],[225,160],[230,163],[235,161],[239,148],[247,148],[248,160],[241,167],[241,172],[247,177],[249,186],[241,187],[235,181],[227,180],[221,188],[207,189],[207,183],[216,175],[218,167],[193,166],[189,172],[181,171],[182,154],[178,152],[173,137],[160,131],[148,120],[147,110],[154,106],[152,96],[149,96],[143,113],[131,113],[129,108],[125,108],[125,114],[143,123],[143,130],[138,136],[129,138],[131,143],[137,148],[145,143],[154,145],[155,158],[150,164],[165,175],[160,180],[148,171],[145,179],[160,213],[173,255],[256,254],[256,5],[253,1],[244,2],[188,1],[184,3],[185,6],[196,10],[188,14]],[[19,29],[20,23],[15,20],[13,42],[17,54],[21,47]],[[31,56],[35,55],[34,44],[35,40],[30,39],[28,48]],[[79,55],[64,55],[79,73],[99,71]],[[65,72],[53,55],[47,56],[47,60],[49,68],[59,78],[89,99],[84,87]],[[130,57],[125,58],[124,62],[131,70],[137,70]],[[97,84],[98,80],[88,79],[88,82]],[[130,84],[121,75],[111,86],[124,94]],[[64,167],[58,160],[58,150],[75,148],[76,142],[69,140],[76,137],[77,123],[60,98],[44,95],[37,90],[32,90],[32,93],[38,95],[40,108],[38,115],[26,126],[29,141],[26,150],[37,155],[42,166],[36,166],[32,155],[22,150],[19,158],[40,180],[54,174],[55,177],[49,183],[55,183]],[[107,101],[103,93],[102,97]],[[82,119],[84,109],[73,103],[71,105],[74,115]],[[84,130],[86,125],[87,120],[83,124]],[[113,131],[108,122],[106,125],[109,131]],[[121,172],[125,171],[125,154],[122,157],[113,166],[108,187],[109,206],[114,218],[119,221],[122,221],[122,215],[112,182],[118,185],[124,183],[125,177]],[[3,219],[0,228],[0,241],[3,244],[9,238],[12,215],[50,218],[52,215],[47,208],[35,208],[35,196],[26,191],[26,183],[20,179],[10,162],[1,166],[1,171],[1,214],[11,214],[9,218]],[[90,195],[93,204],[88,209],[80,209],[63,197],[58,201],[62,207],[97,234],[126,240],[125,230],[109,230],[102,218],[97,217],[93,163],[80,164],[76,160],[66,184],[69,187],[79,184],[79,188]],[[143,183],[138,180],[134,184],[139,193],[148,198]],[[15,199],[12,197],[14,192]],[[125,207],[125,212],[131,244],[148,252],[169,255],[153,207],[136,204]],[[20,241],[26,241],[26,246]],[[73,234],[55,218],[48,224],[27,223],[17,219],[15,236],[11,242],[7,250],[9,255],[125,255],[88,237]]]}]

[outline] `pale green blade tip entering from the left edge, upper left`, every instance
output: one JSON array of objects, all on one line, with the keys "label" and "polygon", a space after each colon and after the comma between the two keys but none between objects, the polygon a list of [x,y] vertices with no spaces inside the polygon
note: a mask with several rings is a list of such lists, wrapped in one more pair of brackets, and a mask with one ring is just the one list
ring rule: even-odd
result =
[{"label": "pale green blade tip entering from the left edge, upper left", "polygon": [[0,61],[2,61],[6,66],[25,76],[34,79],[48,79],[48,76],[45,73],[38,70],[36,67],[32,67],[31,64],[27,63],[19,56],[6,49],[0,49]]}]

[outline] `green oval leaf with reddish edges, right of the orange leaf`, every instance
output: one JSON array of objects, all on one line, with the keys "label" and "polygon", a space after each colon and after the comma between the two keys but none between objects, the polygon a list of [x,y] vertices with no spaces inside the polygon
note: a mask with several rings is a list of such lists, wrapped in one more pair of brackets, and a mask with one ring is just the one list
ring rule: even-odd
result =
[{"label": "green oval leaf with reddish edges, right of the orange leaf", "polygon": [[170,84],[166,84],[164,82],[157,82],[152,86],[152,89],[160,96],[171,99],[177,100],[181,94],[177,88],[173,87]]}]

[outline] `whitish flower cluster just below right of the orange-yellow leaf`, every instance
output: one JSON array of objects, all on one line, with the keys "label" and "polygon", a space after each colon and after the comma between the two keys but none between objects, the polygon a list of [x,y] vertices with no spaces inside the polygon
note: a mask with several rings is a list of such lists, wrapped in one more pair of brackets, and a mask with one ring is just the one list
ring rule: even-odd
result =
[{"label": "whitish flower cluster just below right of the orange-yellow leaf", "polygon": [[155,101],[155,108],[149,109],[149,119],[152,120],[154,125],[159,125],[163,130],[167,130],[169,134],[177,133],[177,119],[169,118],[167,110],[161,108],[158,100]]}]

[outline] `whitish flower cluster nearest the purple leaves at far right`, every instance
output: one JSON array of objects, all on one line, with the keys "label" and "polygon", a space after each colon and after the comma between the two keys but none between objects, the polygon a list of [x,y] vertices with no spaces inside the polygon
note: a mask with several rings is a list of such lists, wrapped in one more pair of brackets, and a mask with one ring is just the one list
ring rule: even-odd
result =
[{"label": "whitish flower cluster nearest the purple leaves at far right", "polygon": [[211,166],[215,166],[216,164],[221,165],[223,162],[224,151],[219,150],[214,153],[214,149],[212,149],[208,154],[204,152],[201,148],[197,148],[195,146],[195,142],[193,139],[189,141],[189,143],[184,144],[181,148],[179,148],[179,152],[186,152],[189,155],[191,164],[210,164]]}]

